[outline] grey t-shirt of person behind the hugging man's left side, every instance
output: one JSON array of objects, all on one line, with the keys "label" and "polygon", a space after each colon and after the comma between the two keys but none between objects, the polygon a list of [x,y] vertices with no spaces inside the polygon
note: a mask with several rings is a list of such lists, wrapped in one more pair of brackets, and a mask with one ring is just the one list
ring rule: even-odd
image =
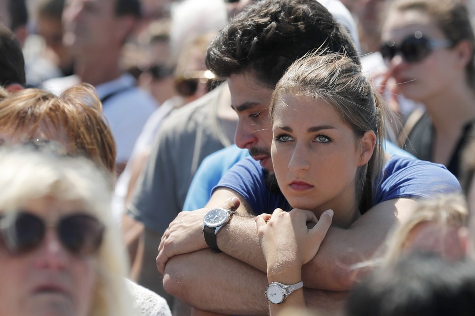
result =
[{"label": "grey t-shirt of person behind the hugging man's left side", "polygon": [[144,172],[137,182],[129,215],[163,233],[182,211],[191,180],[201,161],[232,143],[217,117],[221,85],[175,110],[162,122]]}]

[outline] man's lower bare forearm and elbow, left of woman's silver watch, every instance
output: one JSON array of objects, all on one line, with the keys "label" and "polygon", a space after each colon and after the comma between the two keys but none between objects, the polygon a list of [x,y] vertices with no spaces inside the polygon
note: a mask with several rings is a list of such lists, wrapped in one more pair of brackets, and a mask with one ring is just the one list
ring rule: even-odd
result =
[{"label": "man's lower bare forearm and elbow, left of woman's silver watch", "polygon": [[201,310],[226,315],[267,315],[264,273],[209,249],[171,258],[165,290]]}]

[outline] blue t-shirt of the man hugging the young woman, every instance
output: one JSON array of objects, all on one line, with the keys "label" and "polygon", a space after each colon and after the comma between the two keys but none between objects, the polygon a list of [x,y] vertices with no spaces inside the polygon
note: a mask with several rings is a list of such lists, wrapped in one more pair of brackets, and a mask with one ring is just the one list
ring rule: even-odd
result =
[{"label": "blue t-shirt of the man hugging the young woman", "polygon": [[[251,157],[235,164],[213,191],[226,187],[249,203],[255,215],[287,208],[282,193],[265,184],[264,168]],[[434,197],[442,193],[460,193],[457,178],[443,165],[408,157],[392,156],[385,163],[373,205],[400,197]]]}]

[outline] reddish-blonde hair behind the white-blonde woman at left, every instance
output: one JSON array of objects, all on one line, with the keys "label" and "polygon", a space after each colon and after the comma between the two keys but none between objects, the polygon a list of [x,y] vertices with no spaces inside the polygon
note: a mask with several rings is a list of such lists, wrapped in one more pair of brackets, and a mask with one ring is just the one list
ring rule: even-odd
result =
[{"label": "reddish-blonde hair behind the white-blonde woman at left", "polygon": [[115,141],[92,85],[71,87],[60,96],[28,88],[0,101],[3,129],[31,139],[41,123],[51,124],[53,133],[66,134],[69,154],[84,155],[114,172]]}]

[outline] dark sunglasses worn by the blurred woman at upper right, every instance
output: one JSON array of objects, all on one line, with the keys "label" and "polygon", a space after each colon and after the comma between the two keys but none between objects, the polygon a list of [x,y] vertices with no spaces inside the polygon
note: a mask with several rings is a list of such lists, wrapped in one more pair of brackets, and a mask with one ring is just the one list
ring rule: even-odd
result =
[{"label": "dark sunglasses worn by the blurred woman at upper right", "polygon": [[422,35],[418,31],[412,36],[408,36],[402,40],[401,44],[396,45],[394,40],[388,40],[380,47],[382,58],[389,63],[389,61],[400,53],[402,58],[408,63],[417,63],[424,60],[435,49],[450,47],[452,42],[450,40],[431,40]]}]

